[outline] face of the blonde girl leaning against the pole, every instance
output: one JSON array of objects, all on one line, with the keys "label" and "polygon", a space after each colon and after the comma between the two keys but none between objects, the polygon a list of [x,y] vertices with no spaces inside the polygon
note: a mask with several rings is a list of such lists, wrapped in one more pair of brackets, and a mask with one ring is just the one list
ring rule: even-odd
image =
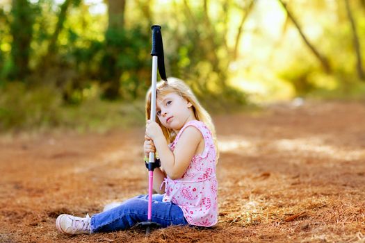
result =
[{"label": "face of the blonde girl leaning against the pole", "polygon": [[175,92],[156,99],[156,115],[163,126],[179,131],[186,122],[195,119],[191,103]]}]

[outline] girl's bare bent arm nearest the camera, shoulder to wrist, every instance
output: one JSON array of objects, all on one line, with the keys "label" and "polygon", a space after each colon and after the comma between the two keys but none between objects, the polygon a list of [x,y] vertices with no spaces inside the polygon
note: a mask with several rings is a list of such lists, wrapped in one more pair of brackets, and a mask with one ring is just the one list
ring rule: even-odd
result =
[{"label": "girl's bare bent arm nearest the camera, shoulder to wrist", "polygon": [[202,133],[194,126],[185,128],[173,152],[170,151],[163,135],[158,135],[154,138],[154,145],[159,152],[161,165],[163,165],[166,174],[172,180],[179,179],[184,175],[191,159],[197,151],[197,146],[202,140]]}]

